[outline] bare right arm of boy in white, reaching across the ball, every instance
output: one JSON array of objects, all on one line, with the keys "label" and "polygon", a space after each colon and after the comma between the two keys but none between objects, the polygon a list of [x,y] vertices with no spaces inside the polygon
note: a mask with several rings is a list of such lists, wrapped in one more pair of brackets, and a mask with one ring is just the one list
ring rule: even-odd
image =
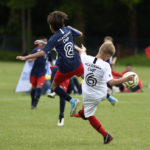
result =
[{"label": "bare right arm of boy in white, reaching across the ball", "polygon": [[118,84],[121,84],[121,83],[124,83],[127,81],[132,81],[133,79],[134,79],[134,75],[130,75],[130,76],[120,78],[120,79],[112,79],[112,80],[108,81],[108,83],[110,85],[118,85]]}]

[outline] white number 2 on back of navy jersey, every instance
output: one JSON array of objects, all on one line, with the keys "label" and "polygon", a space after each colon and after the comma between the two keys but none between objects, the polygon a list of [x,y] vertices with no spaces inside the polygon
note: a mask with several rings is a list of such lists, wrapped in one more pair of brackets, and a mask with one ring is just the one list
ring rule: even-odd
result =
[{"label": "white number 2 on back of navy jersey", "polygon": [[73,44],[71,42],[65,44],[64,50],[66,52],[66,57],[73,58],[74,51],[73,51]]}]

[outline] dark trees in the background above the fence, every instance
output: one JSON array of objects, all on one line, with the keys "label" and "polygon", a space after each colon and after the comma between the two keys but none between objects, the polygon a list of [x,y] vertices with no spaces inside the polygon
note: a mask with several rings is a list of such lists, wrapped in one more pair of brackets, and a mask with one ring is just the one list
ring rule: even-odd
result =
[{"label": "dark trees in the background above the fence", "polygon": [[134,39],[149,36],[148,4],[148,0],[0,0],[0,35],[21,36],[26,53],[33,37],[51,35],[49,12],[61,10],[69,16],[67,24],[85,36],[129,37],[131,47],[136,47]]}]

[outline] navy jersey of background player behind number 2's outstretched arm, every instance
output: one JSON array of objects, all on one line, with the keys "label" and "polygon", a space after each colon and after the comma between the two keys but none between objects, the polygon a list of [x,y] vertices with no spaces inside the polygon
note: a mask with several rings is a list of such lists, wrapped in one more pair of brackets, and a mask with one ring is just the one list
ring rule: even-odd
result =
[{"label": "navy jersey of background player behind number 2's outstretched arm", "polygon": [[[39,48],[35,48],[32,50],[31,54],[39,52],[39,51],[40,51]],[[45,74],[46,74],[46,55],[39,57],[34,61],[30,75],[34,77],[40,77]]]}]

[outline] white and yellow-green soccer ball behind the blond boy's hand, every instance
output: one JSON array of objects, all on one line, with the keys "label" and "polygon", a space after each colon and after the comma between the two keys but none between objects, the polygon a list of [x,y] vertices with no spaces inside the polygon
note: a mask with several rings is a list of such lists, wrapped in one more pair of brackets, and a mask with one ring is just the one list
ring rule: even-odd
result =
[{"label": "white and yellow-green soccer ball behind the blond boy's hand", "polygon": [[135,75],[133,81],[124,82],[123,84],[125,85],[126,88],[132,89],[132,88],[134,88],[134,87],[136,87],[138,85],[139,78],[138,78],[138,75],[135,72],[131,72],[131,71],[130,72],[126,72],[123,75],[123,78],[127,77],[129,75]]}]

